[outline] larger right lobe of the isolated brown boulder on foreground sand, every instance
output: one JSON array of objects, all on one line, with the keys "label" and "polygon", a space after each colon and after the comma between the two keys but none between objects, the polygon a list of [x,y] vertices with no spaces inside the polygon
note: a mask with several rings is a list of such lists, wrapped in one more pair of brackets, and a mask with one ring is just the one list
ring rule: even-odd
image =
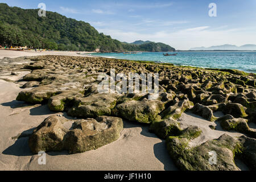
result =
[{"label": "larger right lobe of the isolated brown boulder on foreground sand", "polygon": [[75,122],[65,136],[64,148],[71,154],[94,150],[117,140],[123,129],[121,118],[100,116]]}]

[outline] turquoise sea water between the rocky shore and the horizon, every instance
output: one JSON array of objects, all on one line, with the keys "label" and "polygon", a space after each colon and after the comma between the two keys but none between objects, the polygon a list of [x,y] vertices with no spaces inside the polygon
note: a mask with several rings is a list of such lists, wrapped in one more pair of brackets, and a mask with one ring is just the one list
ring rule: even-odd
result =
[{"label": "turquoise sea water between the rocky shore and the horizon", "polygon": [[142,52],[138,54],[92,53],[92,55],[116,59],[172,63],[201,68],[239,69],[245,72],[256,73],[256,52],[177,52],[176,56],[163,56],[163,53],[166,52]]}]

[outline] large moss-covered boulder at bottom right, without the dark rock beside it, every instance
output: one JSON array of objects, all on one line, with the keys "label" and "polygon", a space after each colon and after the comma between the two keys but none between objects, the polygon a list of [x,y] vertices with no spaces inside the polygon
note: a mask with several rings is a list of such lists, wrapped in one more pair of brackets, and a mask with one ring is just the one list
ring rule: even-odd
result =
[{"label": "large moss-covered boulder at bottom right, without the dark rock beside it", "polygon": [[[189,135],[188,135],[189,136]],[[176,166],[188,171],[237,171],[233,152],[238,148],[238,140],[222,135],[217,140],[209,140],[200,146],[189,147],[187,137],[168,137],[167,150]],[[211,155],[216,154],[216,163],[210,163]]]}]

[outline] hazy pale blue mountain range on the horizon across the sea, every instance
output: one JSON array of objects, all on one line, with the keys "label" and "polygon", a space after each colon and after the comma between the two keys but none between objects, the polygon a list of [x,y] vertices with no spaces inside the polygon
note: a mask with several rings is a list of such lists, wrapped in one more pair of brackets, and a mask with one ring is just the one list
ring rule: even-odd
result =
[{"label": "hazy pale blue mountain range on the horizon across the sea", "polygon": [[195,47],[189,49],[191,51],[213,51],[213,50],[237,50],[237,51],[254,51],[256,50],[256,45],[254,44],[246,44],[243,46],[235,46],[230,44],[224,44],[221,46],[211,46],[211,47]]}]

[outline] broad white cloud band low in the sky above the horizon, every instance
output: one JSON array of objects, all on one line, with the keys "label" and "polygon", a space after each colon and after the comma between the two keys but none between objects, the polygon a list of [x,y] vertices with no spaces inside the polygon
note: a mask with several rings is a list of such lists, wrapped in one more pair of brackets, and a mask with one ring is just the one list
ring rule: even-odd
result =
[{"label": "broad white cloud band low in the sky above the horizon", "polygon": [[[251,28],[253,29],[253,28]],[[192,47],[210,47],[221,44],[255,44],[254,32],[247,28],[218,30],[209,26],[185,28],[177,31],[156,31],[152,33],[141,33],[134,31],[121,31],[112,29],[101,29],[100,32],[112,36],[122,42],[134,42],[135,40],[151,40],[163,42],[176,49],[190,49]],[[245,33],[246,32],[246,33]]]}]

